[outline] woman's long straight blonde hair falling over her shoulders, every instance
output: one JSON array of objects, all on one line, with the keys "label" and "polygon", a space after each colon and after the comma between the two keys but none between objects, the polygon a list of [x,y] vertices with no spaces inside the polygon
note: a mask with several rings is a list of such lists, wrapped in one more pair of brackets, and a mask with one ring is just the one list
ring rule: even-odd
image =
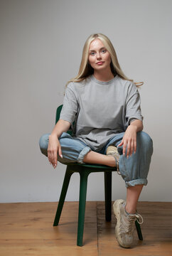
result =
[{"label": "woman's long straight blonde hair falling over her shoulders", "polygon": [[[94,69],[91,67],[91,65],[88,63],[88,54],[89,54],[89,48],[90,48],[90,43],[92,43],[93,40],[96,38],[100,39],[102,43],[104,44],[104,47],[108,50],[109,54],[111,55],[111,63],[110,63],[110,68],[112,71],[112,74],[119,75],[120,78],[124,80],[129,80],[131,82],[134,82],[134,80],[131,80],[127,78],[126,75],[124,75],[122,69],[119,66],[119,62],[117,59],[117,54],[114,50],[114,46],[112,46],[111,41],[107,36],[103,35],[102,33],[94,33],[87,38],[87,41],[85,42],[85,46],[82,50],[82,60],[80,63],[80,69],[75,78],[70,79],[66,86],[68,85],[69,82],[81,82],[82,80],[85,80],[89,75],[92,75],[94,73]],[[144,82],[134,82],[136,87],[139,87],[144,84]]]}]

